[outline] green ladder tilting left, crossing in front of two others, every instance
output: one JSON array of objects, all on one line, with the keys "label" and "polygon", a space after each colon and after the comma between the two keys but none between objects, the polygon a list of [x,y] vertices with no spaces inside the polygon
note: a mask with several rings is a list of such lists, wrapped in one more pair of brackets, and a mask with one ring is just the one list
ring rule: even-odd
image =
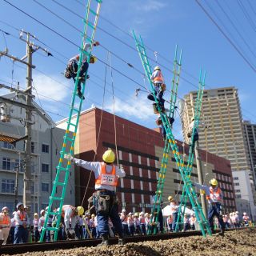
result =
[{"label": "green ladder tilting left, crossing in front of two others", "polygon": [[[134,34],[134,31],[133,31]],[[202,235],[206,237],[206,231],[208,234],[211,234],[209,223],[206,220],[206,217],[204,216],[202,212],[202,206],[200,205],[200,202],[198,201],[197,194],[194,191],[194,187],[192,186],[192,182],[190,180],[190,176],[187,175],[186,167],[184,166],[184,162],[179,154],[178,146],[175,142],[174,135],[172,134],[170,122],[166,116],[166,112],[161,112],[161,108],[158,104],[158,99],[156,98],[156,95],[154,93],[154,83],[150,80],[150,74],[151,73],[151,67],[148,62],[148,58],[146,56],[146,49],[144,47],[144,44],[142,42],[142,38],[140,37],[140,40],[136,37],[134,34],[134,39],[136,42],[136,47],[138,50],[138,54],[142,60],[142,66],[145,70],[146,77],[150,81],[151,86],[151,93],[154,95],[154,102],[157,105],[158,112],[160,113],[162,124],[164,126],[164,129],[166,130],[166,138],[168,139],[168,143],[170,144],[170,148],[172,150],[172,153],[174,154],[174,158],[177,162],[178,170],[181,174],[182,181],[184,182],[184,186],[186,189],[186,192],[189,196],[192,209],[194,210],[195,216],[197,218],[198,226],[200,227],[200,230],[202,231]],[[205,228],[206,227],[206,231]]]}]

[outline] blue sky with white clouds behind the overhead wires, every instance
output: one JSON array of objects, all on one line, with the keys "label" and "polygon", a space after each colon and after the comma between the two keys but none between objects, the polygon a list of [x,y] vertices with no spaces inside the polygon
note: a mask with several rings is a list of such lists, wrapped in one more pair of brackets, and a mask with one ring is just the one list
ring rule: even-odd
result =
[{"label": "blue sky with white clouds behind the overhead wires", "polygon": [[[85,16],[86,9],[82,5],[85,5],[87,1],[40,1],[54,14],[58,14],[66,22],[72,23],[76,29],[55,17],[33,0],[8,0],[8,2],[26,11],[46,26],[50,26],[80,46],[81,37],[78,30],[82,30],[83,23],[78,16]],[[66,6],[78,16],[65,10],[56,2]],[[137,82],[142,86],[149,86],[149,83],[144,81],[142,77],[143,69],[138,53],[131,49],[135,48],[134,39],[130,37],[130,32],[134,29],[142,35],[146,46],[150,48],[147,53],[152,58],[151,65],[153,67],[156,64],[162,66],[166,85],[169,88],[171,86],[172,74],[170,70],[173,67],[175,45],[178,44],[179,48],[182,48],[182,78],[178,89],[179,98],[182,98],[190,90],[197,89],[199,70],[202,67],[206,70],[206,89],[222,86],[237,87],[243,118],[256,123],[256,114],[254,113],[255,70],[253,70],[255,69],[254,65],[256,65],[256,52],[254,50],[256,49],[256,2],[252,0],[242,2],[240,0],[206,0],[198,2],[216,20],[218,26],[253,68],[224,38],[196,1],[103,0],[100,12],[102,17],[99,18],[95,36],[95,39],[102,46],[95,47],[94,54],[102,61],[111,63],[111,66],[132,79],[127,79],[113,70],[116,114],[143,126],[150,128],[155,126],[156,117],[151,109],[151,102],[146,99],[146,93],[141,92],[138,97],[134,96],[134,91],[138,88]],[[26,53],[26,44],[18,39],[18,31],[2,22],[29,31],[49,46],[46,48],[50,50],[54,58],[46,57],[46,54],[39,50],[33,55],[33,62],[36,66],[36,70],[33,70],[34,86],[38,92],[36,94],[34,90],[34,94],[37,96],[37,101],[38,98],[40,99],[39,105],[42,104],[42,108],[50,114],[54,121],[68,116],[74,83],[64,78],[62,72],[65,70],[67,59],[78,53],[78,47],[15,10],[5,1],[0,0],[0,6],[0,29],[11,34],[6,35],[0,31],[0,49],[3,50],[8,46],[10,54],[19,58],[22,58]],[[115,26],[112,26],[111,23]],[[126,33],[123,33],[122,30]],[[41,42],[34,42],[42,45]],[[113,54],[110,54],[110,59],[107,60],[108,50]],[[157,62],[154,51],[159,53],[157,54]],[[118,55],[119,58],[114,55]],[[120,58],[132,64],[135,69],[130,68]],[[168,67],[168,70],[163,66]],[[1,58],[0,82],[6,83],[6,85],[10,85],[8,82],[13,82],[15,85],[18,81],[22,87],[25,87],[26,70],[24,68],[25,66],[22,64],[15,63],[13,66],[9,59]],[[82,106],[83,110],[92,104],[102,107],[105,72],[106,66],[102,62],[98,61],[94,65],[90,65],[90,80],[86,83],[86,100]],[[110,68],[107,68],[104,109],[110,112],[113,111],[111,81]],[[6,90],[0,91],[0,94],[5,93],[7,93]],[[169,95],[166,94],[166,98],[168,97]],[[176,122],[174,126],[175,134],[177,134],[176,137],[180,138],[179,122]]]}]

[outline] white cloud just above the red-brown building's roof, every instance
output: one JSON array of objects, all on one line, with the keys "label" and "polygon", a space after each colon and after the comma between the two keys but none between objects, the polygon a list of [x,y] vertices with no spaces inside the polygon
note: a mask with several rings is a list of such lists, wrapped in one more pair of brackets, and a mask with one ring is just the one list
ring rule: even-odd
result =
[{"label": "white cloud just above the red-brown building's roof", "polygon": [[[146,97],[142,98],[143,96],[144,94],[138,96],[138,98],[130,96],[130,98],[127,99],[127,102],[115,98],[115,113],[120,114],[123,118],[134,118],[142,121],[155,119],[156,115],[154,114],[152,107],[153,102],[150,102]],[[113,112],[113,102],[108,102],[105,109]]]}]

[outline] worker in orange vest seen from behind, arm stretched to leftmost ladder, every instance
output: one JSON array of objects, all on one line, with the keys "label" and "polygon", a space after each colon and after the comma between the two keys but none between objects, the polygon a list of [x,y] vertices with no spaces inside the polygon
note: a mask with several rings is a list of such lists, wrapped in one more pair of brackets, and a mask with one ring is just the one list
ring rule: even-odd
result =
[{"label": "worker in orange vest seen from behind, arm stretched to leftmost ladder", "polygon": [[122,167],[119,168],[114,165],[114,151],[106,150],[102,155],[103,162],[88,162],[73,158],[70,154],[65,154],[64,158],[68,161],[73,161],[77,166],[82,166],[85,170],[94,172],[96,192],[93,194],[93,202],[97,214],[98,234],[102,237],[100,246],[107,246],[109,244],[109,218],[118,233],[118,243],[123,244],[122,222],[118,215],[116,187],[118,186],[118,178],[125,177],[126,173]]}]

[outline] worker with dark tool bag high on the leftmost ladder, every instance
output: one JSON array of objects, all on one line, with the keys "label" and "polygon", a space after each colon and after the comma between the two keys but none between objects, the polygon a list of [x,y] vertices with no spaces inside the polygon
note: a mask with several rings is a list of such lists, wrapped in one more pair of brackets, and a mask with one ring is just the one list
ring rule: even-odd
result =
[{"label": "worker with dark tool bag high on the leftmost ladder", "polygon": [[[94,42],[92,44],[92,46],[98,46],[99,42]],[[89,53],[91,44],[88,42],[84,45],[84,50]],[[70,79],[73,78],[74,82],[76,81],[76,79],[78,79],[78,97],[79,98],[84,98],[84,96],[82,95],[82,91],[81,91],[81,82],[85,82],[85,79],[90,78],[89,75],[86,76],[87,74],[87,70],[89,67],[89,63],[87,61],[87,54],[83,55],[83,60],[82,60],[82,64],[80,66],[80,70],[78,71],[78,64],[79,64],[79,59],[80,59],[80,54],[75,55],[73,58],[70,58],[69,62],[67,63],[66,66],[66,70],[64,71],[64,75],[66,78]],[[90,64],[94,64],[94,62],[97,61],[97,58],[93,55],[90,55]]]}]

